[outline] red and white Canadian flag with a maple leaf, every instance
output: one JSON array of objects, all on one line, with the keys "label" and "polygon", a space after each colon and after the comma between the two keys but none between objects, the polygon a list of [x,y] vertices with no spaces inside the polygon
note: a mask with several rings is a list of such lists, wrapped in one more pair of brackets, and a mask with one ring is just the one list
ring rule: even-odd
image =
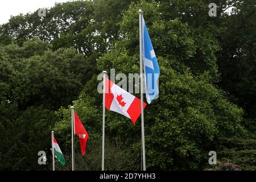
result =
[{"label": "red and white Canadian flag with a maple leaf", "polygon": [[[141,115],[141,100],[115,85],[108,78],[105,81],[106,109],[125,115],[135,125],[138,117]],[[145,107],[146,103],[143,102],[143,109]]]}]

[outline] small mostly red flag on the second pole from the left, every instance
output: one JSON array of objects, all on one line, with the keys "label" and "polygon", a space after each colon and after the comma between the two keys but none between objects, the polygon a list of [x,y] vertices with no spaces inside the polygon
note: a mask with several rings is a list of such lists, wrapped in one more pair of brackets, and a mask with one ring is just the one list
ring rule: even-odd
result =
[{"label": "small mostly red flag on the second pole from the left", "polygon": [[77,116],[75,110],[74,110],[74,121],[75,121],[75,134],[79,135],[79,142],[80,142],[80,148],[82,152],[82,156],[85,155],[85,148],[86,148],[86,142],[88,140],[88,133],[85,130],[84,126],[82,126],[82,122],[80,121],[79,117]]}]

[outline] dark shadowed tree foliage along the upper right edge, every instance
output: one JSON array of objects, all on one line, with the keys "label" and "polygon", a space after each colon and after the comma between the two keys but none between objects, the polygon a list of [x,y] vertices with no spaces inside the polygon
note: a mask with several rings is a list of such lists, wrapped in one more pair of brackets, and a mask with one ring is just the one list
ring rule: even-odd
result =
[{"label": "dark shadowed tree foliage along the upper right edge", "polygon": [[256,7],[255,0],[237,1],[232,15],[220,22],[225,34],[218,37],[219,85],[246,110],[246,118],[255,118],[256,109]]}]

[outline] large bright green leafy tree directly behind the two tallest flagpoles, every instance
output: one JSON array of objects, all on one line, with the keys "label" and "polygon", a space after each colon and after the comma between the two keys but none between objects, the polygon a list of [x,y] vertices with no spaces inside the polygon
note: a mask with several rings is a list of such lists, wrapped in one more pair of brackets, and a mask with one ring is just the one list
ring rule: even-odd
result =
[{"label": "large bright green leafy tree directly behind the two tallest flagpoles", "polygon": [[[164,22],[158,3],[132,3],[120,23],[122,38],[114,43],[111,52],[97,60],[98,70],[115,68],[115,72],[139,73],[137,10],[140,7],[143,7],[161,70],[159,98],[144,110],[147,168],[203,169],[207,152],[220,137],[240,136],[245,130],[241,125],[242,110],[225,98],[225,92],[211,84],[209,70],[195,76],[182,61],[194,57],[196,51],[197,38],[189,34],[187,24],[178,19]],[[163,49],[162,45],[166,47]],[[203,47],[214,55],[216,49],[211,44]],[[88,131],[98,134],[102,98],[96,93],[96,82],[96,77],[92,77],[74,104]],[[61,112],[69,115],[70,111]],[[69,125],[70,121],[63,119],[55,128],[63,133],[70,130]],[[106,134],[111,138],[122,136],[122,142],[140,154],[139,122],[133,126],[129,119],[106,112]],[[100,137],[95,135],[91,140]],[[69,145],[69,140],[65,142]]]}]

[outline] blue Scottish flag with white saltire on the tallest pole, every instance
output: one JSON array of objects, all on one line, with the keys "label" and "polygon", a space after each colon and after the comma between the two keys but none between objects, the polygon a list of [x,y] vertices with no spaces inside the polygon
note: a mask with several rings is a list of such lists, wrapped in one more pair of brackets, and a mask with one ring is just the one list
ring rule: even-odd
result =
[{"label": "blue Scottish flag with white saltire on the tallest pole", "polygon": [[151,104],[153,100],[158,98],[159,88],[158,80],[160,75],[158,60],[155,56],[155,51],[152,46],[150,36],[147,32],[146,23],[142,18],[142,38],[143,38],[143,65],[144,65],[144,76],[146,83],[146,98],[148,104]]}]

